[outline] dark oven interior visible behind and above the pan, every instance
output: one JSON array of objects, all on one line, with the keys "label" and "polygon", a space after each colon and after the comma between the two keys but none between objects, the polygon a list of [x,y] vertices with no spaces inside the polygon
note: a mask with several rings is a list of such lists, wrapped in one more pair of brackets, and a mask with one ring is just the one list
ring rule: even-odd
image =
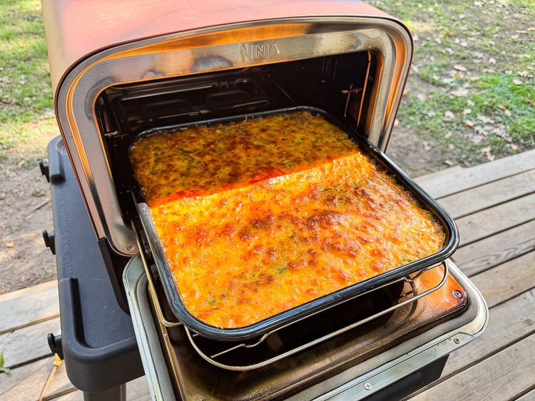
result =
[{"label": "dark oven interior visible behind and above the pan", "polygon": [[371,51],[114,85],[95,115],[126,226],[137,212],[128,147],[155,127],[296,105],[325,110],[365,135],[377,57]]}]

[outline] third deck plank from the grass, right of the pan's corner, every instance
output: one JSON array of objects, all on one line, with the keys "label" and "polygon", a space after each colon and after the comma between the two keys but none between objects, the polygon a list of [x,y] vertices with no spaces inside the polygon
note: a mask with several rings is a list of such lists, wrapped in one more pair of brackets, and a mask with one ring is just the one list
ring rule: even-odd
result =
[{"label": "third deck plank from the grass, right of the pan's corner", "polygon": [[535,219],[535,194],[457,219],[459,246],[484,239]]}]

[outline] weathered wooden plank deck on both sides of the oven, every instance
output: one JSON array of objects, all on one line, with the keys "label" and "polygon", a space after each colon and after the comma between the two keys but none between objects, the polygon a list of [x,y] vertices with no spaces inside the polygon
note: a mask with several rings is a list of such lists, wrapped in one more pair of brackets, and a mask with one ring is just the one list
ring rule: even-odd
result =
[{"label": "weathered wooden plank deck on both sides of the oven", "polygon": [[[442,377],[411,400],[535,400],[535,150],[469,169],[417,178],[456,219],[461,245],[452,259],[490,309],[484,335],[450,355]],[[59,330],[57,282],[0,296],[2,401],[37,400],[54,358],[47,333]],[[144,377],[128,400],[150,400]],[[45,400],[83,395],[58,369]]]}]

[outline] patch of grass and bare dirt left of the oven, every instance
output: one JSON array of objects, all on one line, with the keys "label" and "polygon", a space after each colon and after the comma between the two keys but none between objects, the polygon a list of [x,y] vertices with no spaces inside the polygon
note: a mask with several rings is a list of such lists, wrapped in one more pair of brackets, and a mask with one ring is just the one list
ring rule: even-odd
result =
[{"label": "patch of grass and bare dirt left of the oven", "polygon": [[0,2],[0,160],[41,157],[58,135],[41,3]]}]

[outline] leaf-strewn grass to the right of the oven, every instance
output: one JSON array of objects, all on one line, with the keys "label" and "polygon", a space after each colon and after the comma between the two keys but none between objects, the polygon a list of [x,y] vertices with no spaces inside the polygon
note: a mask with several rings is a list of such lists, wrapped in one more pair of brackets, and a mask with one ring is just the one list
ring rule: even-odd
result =
[{"label": "leaf-strewn grass to the right of the oven", "polygon": [[535,148],[535,0],[372,4],[414,35],[402,126],[449,165]]}]

